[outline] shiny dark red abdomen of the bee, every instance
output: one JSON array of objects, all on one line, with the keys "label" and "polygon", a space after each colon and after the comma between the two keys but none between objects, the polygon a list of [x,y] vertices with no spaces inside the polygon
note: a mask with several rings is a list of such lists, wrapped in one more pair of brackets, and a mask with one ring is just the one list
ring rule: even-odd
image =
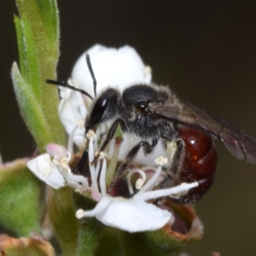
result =
[{"label": "shiny dark red abdomen of the bee", "polygon": [[195,202],[211,187],[216,173],[217,154],[212,138],[190,127],[180,127],[184,141],[184,159],[180,168],[180,182],[198,181],[199,186],[181,196],[177,202]]}]

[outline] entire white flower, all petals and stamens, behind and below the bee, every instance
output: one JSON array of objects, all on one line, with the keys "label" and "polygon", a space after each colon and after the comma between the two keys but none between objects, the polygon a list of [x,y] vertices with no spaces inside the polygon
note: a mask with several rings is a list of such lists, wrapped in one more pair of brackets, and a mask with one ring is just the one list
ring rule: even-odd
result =
[{"label": "entire white flower, all petals and stamens, behind and below the bee", "polygon": [[[134,82],[150,83],[150,68],[145,67],[140,56],[131,47],[125,46],[116,50],[95,45],[88,50],[88,54],[90,54],[92,61],[93,72],[97,77],[97,92],[100,92],[106,85],[110,84],[118,86],[119,90],[123,90],[125,86],[134,84]],[[72,79],[68,83],[93,95],[92,77],[86,66],[85,54],[77,61],[72,72]],[[88,84],[91,85],[88,86]],[[95,165],[89,164],[91,185],[82,175],[74,175],[71,172],[68,162],[73,153],[73,143],[76,143],[81,150],[84,148],[84,140],[86,138],[84,136],[83,120],[87,113],[86,108],[90,104],[90,99],[84,99],[84,95],[61,88],[59,113],[65,129],[70,134],[68,148],[65,149],[60,145],[48,145],[47,154],[29,161],[28,168],[39,179],[54,189],[70,186],[81,193],[88,189],[92,192],[93,199],[98,202],[95,209],[90,211],[79,209],[76,212],[77,218],[95,216],[97,220],[105,225],[127,230],[128,232],[156,230],[166,225],[168,221],[172,222],[172,213],[152,204],[152,200],[163,196],[179,196],[179,193],[184,193],[184,191],[186,193],[189,189],[198,186],[198,182],[180,184],[174,188],[156,189],[162,166],[167,163],[166,157],[156,157],[156,155],[163,156],[165,154],[162,145],[157,145],[154,154],[148,156],[150,157],[150,162],[148,162],[150,164],[152,159],[156,159],[155,165],[158,167],[154,175],[147,179],[147,173],[140,169],[134,169],[128,173],[127,185],[131,194],[131,198],[128,199],[121,196],[113,197],[108,195],[106,189],[107,161],[103,154]],[[86,136],[90,140],[88,155],[89,162],[92,163],[95,151],[97,151],[97,141],[95,140],[97,136],[92,131],[88,132]],[[134,141],[134,143],[136,142]],[[131,138],[124,139],[120,149],[121,158],[127,154],[134,143],[131,143]],[[137,159],[140,159],[140,155]],[[135,194],[131,184],[131,176],[134,173],[140,176],[136,180],[138,192]]]}]

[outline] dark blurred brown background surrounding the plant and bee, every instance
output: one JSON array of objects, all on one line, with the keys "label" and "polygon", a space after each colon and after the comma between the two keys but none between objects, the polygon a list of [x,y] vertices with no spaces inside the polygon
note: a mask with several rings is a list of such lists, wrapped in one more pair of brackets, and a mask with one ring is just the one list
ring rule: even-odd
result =
[{"label": "dark blurred brown background surrounding the plant and bee", "polygon": [[[256,6],[253,1],[59,1],[66,81],[77,57],[100,43],[137,49],[153,80],[256,137]],[[0,150],[4,161],[35,148],[19,116],[10,67],[18,60],[13,2],[0,1]],[[47,77],[45,77],[47,78]],[[218,175],[196,203],[205,225],[189,255],[256,255],[256,166],[216,143]],[[115,244],[113,244],[115,246]]]}]

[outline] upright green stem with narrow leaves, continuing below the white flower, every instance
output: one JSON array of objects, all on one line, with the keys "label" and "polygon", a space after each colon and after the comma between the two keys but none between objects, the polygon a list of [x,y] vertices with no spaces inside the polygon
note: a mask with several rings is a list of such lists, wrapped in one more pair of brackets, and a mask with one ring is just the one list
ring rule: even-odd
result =
[{"label": "upright green stem with narrow leaves, continuing below the white flower", "polygon": [[[56,0],[15,0],[19,17],[15,28],[19,47],[20,71],[12,67],[12,79],[20,113],[40,152],[49,143],[66,145],[58,116],[58,88],[45,84],[56,79],[60,32]],[[74,255],[78,222],[69,188],[47,193],[48,214],[55,228],[63,255]]]}]

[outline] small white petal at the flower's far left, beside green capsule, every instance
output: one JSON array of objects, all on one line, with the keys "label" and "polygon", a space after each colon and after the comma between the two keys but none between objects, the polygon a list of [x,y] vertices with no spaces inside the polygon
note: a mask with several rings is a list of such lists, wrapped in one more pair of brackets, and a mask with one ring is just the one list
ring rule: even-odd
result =
[{"label": "small white petal at the flower's far left, beside green capsule", "polygon": [[56,166],[51,164],[51,156],[44,154],[28,162],[28,168],[38,179],[44,181],[54,189],[65,186],[65,179]]}]

